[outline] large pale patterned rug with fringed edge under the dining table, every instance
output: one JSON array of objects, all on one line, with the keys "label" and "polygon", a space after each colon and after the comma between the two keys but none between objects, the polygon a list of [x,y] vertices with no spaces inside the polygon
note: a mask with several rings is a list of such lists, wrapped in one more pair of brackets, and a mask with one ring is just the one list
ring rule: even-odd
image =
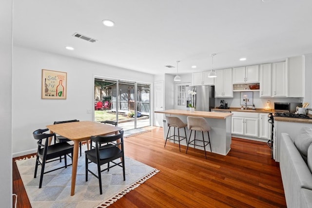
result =
[{"label": "large pale patterned rug with fringed edge under the dining table", "polygon": [[[34,178],[35,157],[18,160],[16,163],[32,208],[105,208],[159,171],[125,156],[126,181],[123,181],[121,167],[113,167],[109,172],[102,172],[103,194],[100,195],[96,177],[89,173],[88,182],[85,181],[83,151],[82,156],[78,158],[75,195],[70,196],[72,166],[44,174],[42,187],[39,189],[41,169],[39,166],[37,178]],[[67,164],[71,164],[70,158]],[[63,165],[64,160],[62,163],[59,161],[47,163],[45,171]],[[97,172],[96,164],[90,163],[89,167]],[[102,167],[105,168],[105,165]]]}]

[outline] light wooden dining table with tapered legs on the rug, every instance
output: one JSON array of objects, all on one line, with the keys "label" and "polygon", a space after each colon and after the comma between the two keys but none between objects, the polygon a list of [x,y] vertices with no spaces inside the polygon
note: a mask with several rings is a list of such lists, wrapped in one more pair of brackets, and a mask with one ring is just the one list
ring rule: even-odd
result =
[{"label": "light wooden dining table with tapered legs on the rug", "polygon": [[53,124],[46,127],[51,132],[55,132],[74,141],[71,196],[75,194],[79,142],[87,141],[91,136],[117,134],[118,131],[122,130],[120,127],[93,121]]}]

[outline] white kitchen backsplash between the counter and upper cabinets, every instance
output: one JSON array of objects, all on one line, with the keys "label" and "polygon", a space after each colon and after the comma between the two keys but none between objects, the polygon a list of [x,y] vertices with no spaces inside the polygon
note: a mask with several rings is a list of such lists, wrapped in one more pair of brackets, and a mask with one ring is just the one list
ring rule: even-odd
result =
[{"label": "white kitchen backsplash between the counter and upper cabinets", "polygon": [[[274,102],[303,102],[303,98],[294,98],[294,97],[259,97],[259,92],[254,91],[253,92],[253,102],[255,105],[255,108],[265,108],[267,101],[270,100],[271,102],[271,109],[274,108]],[[240,92],[233,92],[233,97],[230,98],[215,98],[215,107],[218,107],[220,105],[220,100],[224,100],[228,103],[228,106],[230,108],[239,108],[242,106],[240,104]],[[251,106],[248,106],[248,108],[252,108]]]}]

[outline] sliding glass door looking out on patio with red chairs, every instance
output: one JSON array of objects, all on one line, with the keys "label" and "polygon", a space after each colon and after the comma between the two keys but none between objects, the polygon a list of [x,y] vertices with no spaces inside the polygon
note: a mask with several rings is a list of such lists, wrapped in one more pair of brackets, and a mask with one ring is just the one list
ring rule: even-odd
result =
[{"label": "sliding glass door looking out on patio with red chairs", "polygon": [[150,126],[150,84],[95,78],[94,120],[117,121],[124,130]]}]

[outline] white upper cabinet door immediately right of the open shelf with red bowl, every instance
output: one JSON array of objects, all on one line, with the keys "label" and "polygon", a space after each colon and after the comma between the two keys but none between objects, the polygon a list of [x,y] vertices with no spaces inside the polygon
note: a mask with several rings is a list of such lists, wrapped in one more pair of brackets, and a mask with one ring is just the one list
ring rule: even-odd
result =
[{"label": "white upper cabinet door immediately right of the open shelf with red bowl", "polygon": [[260,65],[260,97],[271,97],[272,95],[272,64]]}]

